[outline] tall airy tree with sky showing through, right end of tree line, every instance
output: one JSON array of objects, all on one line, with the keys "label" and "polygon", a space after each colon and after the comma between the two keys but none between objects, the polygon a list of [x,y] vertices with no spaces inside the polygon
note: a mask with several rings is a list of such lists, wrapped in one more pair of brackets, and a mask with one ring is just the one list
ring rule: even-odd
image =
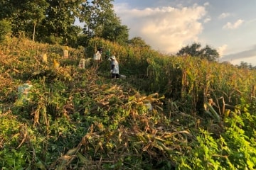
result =
[{"label": "tall airy tree with sky showing through, right end of tree line", "polygon": [[127,43],[127,26],[122,26],[113,10],[113,0],[92,0],[82,4],[80,22],[85,22],[85,37],[99,37],[106,40]]}]

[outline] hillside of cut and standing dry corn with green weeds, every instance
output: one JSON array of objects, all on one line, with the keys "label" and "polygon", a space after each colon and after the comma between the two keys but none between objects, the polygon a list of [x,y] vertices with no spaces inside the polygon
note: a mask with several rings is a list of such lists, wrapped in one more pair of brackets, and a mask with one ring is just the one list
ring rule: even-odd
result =
[{"label": "hillside of cut and standing dry corn with green weeds", "polygon": [[[127,79],[107,60],[78,67],[99,46]],[[1,169],[256,169],[253,70],[101,39],[13,38],[0,55]]]}]

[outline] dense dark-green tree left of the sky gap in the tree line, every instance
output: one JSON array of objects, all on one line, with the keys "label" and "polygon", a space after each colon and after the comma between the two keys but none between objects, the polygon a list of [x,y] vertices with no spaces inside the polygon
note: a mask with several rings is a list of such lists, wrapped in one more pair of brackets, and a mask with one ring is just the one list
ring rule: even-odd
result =
[{"label": "dense dark-green tree left of the sky gap in the tree line", "polygon": [[73,26],[75,19],[80,16],[80,7],[85,0],[46,0],[49,4],[46,9],[46,18],[41,25],[41,38],[46,35],[53,35],[57,42],[62,41],[68,45],[70,41],[70,31],[72,35],[80,33],[77,26]]}]

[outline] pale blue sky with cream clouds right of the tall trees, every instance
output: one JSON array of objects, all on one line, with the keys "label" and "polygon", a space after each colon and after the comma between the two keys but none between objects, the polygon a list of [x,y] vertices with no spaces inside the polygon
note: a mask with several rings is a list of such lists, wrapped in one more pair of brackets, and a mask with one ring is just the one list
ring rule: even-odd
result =
[{"label": "pale blue sky with cream clouds right of the tall trees", "polygon": [[194,42],[219,62],[256,66],[256,0],[114,0],[114,12],[154,50],[175,55]]}]

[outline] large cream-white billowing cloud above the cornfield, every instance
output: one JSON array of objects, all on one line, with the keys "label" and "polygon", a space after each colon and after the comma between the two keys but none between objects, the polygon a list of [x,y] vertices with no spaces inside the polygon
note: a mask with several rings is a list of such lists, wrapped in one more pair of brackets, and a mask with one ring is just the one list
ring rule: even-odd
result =
[{"label": "large cream-white billowing cloud above the cornfield", "polygon": [[187,42],[198,39],[203,30],[200,20],[206,15],[204,6],[131,9],[115,4],[117,16],[128,26],[129,35],[142,37],[146,43],[162,52],[177,52]]}]

